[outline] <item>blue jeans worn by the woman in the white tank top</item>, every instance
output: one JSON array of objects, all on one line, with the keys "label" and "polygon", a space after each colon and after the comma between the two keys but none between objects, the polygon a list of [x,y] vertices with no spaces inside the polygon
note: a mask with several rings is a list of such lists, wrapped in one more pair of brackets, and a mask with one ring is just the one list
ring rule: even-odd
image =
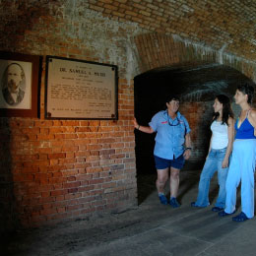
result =
[{"label": "blue jeans worn by the woman in the white tank top", "polygon": [[224,208],[225,205],[225,180],[227,176],[227,168],[222,167],[226,148],[222,150],[212,149],[205,162],[204,168],[200,175],[200,181],[198,186],[198,196],[195,205],[198,207],[207,207],[209,203],[209,188],[210,181],[218,170],[218,182],[219,182],[219,195],[216,202],[216,207]]}]

